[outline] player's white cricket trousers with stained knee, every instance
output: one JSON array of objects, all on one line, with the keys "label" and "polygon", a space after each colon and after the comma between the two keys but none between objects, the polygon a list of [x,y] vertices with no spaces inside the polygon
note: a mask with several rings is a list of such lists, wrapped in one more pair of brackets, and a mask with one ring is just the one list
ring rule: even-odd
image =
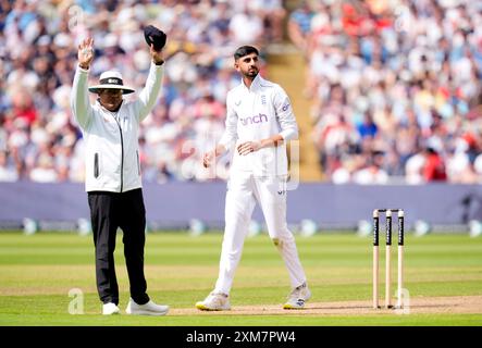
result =
[{"label": "player's white cricket trousers with stained knee", "polygon": [[256,201],[261,206],[268,233],[277,247],[293,288],[306,282],[295,237],[286,224],[286,176],[231,175],[225,202],[225,228],[220,272],[214,291],[230,294]]}]

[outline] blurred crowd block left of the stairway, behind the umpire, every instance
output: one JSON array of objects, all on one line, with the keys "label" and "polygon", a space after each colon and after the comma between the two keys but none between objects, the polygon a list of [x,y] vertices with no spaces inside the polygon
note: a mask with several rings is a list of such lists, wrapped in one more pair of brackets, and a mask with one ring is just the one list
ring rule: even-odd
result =
[{"label": "blurred crowd block left of the stairway, behind the umpire", "polygon": [[226,91],[240,83],[233,52],[281,41],[285,14],[277,0],[0,1],[0,181],[84,181],[70,108],[77,45],[94,37],[89,85],[118,70],[139,92],[150,64],[147,24],[164,30],[168,45],[162,98],[140,128],[144,179],[211,178],[200,158],[224,130]]}]

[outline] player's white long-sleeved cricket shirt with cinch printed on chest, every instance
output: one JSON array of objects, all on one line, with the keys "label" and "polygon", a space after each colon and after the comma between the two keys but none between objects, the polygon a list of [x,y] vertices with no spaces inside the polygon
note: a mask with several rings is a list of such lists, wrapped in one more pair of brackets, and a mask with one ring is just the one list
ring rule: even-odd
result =
[{"label": "player's white long-sleeved cricket shirt with cinch printed on chest", "polygon": [[287,174],[286,142],[298,138],[298,126],[292,103],[284,89],[258,74],[248,88],[240,85],[226,97],[225,130],[220,139],[226,149],[246,141],[259,141],[281,134],[285,140],[277,147],[268,147],[240,156],[234,151],[231,175],[250,172],[255,176]]}]

